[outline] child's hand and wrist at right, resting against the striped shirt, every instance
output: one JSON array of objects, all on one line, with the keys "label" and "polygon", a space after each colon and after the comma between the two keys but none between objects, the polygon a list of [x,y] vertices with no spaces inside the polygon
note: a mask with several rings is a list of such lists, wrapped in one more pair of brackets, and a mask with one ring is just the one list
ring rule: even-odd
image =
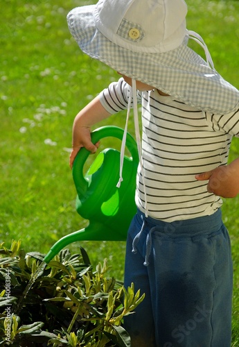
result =
[{"label": "child's hand and wrist at right, resting against the striped shirt", "polygon": [[195,176],[197,180],[209,180],[207,190],[222,198],[234,198],[239,194],[239,158],[230,164]]}]

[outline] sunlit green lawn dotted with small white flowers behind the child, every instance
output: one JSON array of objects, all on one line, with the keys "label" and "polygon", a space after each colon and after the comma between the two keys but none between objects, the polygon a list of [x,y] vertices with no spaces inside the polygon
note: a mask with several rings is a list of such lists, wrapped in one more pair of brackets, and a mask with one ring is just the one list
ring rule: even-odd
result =
[{"label": "sunlit green lawn dotted with small white flowers behind the child", "polygon": [[[78,110],[118,77],[83,55],[69,34],[67,12],[86,3],[1,0],[0,241],[7,246],[12,239],[21,239],[26,250],[46,253],[57,239],[87,223],[75,210],[76,191],[68,166],[71,126]],[[239,1],[188,0],[188,8],[188,28],[204,37],[215,67],[239,87],[235,73]],[[123,127],[125,113],[98,126],[105,124]],[[230,160],[238,154],[238,139],[233,139]],[[234,198],[224,201],[222,208],[235,272],[232,346],[239,344],[238,207],[239,198]],[[124,242],[81,245],[94,264],[107,257],[114,276],[123,278]]]}]

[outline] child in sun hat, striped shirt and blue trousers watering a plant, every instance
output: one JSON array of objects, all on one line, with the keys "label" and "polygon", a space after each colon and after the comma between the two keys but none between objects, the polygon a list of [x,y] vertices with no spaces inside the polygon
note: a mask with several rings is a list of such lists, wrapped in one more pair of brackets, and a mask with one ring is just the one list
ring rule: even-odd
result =
[{"label": "child in sun hat, striped shirt and blue trousers watering a plant", "polygon": [[[125,328],[136,347],[231,344],[232,264],[220,196],[239,193],[239,159],[227,165],[239,134],[239,92],[186,29],[186,12],[184,0],[100,0],[68,15],[82,51],[122,76],[76,116],[70,165],[82,146],[98,148],[91,126],[134,108],[138,212],[127,237],[125,287],[134,282],[145,299]],[[188,48],[189,38],[207,61]]]}]

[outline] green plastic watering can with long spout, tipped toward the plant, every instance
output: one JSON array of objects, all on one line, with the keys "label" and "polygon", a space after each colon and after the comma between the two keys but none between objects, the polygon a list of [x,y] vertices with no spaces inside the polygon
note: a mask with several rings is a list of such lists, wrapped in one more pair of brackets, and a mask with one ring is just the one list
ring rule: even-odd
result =
[{"label": "green plastic watering can with long spout, tipped toward the plant", "polygon": [[[123,139],[123,129],[116,126],[103,126],[91,133],[91,141],[98,142],[104,137]],[[127,133],[126,146],[132,155],[124,156],[123,181],[116,187],[120,172],[121,153],[116,149],[100,152],[83,174],[89,151],[82,148],[73,163],[73,180],[76,185],[76,210],[81,217],[89,219],[87,228],[62,237],[44,257],[50,262],[65,246],[76,241],[125,241],[130,221],[136,213],[134,193],[139,155],[134,138]]]}]

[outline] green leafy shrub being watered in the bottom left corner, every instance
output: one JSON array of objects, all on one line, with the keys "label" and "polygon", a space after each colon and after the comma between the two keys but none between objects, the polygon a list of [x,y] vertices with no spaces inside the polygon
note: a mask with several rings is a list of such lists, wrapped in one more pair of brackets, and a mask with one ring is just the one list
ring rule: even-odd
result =
[{"label": "green leafy shrub being watered in the bottom left corner", "polygon": [[46,265],[20,244],[0,244],[1,346],[130,346],[123,317],[144,297],[133,284],[107,278],[107,260],[93,271],[84,248]]}]

